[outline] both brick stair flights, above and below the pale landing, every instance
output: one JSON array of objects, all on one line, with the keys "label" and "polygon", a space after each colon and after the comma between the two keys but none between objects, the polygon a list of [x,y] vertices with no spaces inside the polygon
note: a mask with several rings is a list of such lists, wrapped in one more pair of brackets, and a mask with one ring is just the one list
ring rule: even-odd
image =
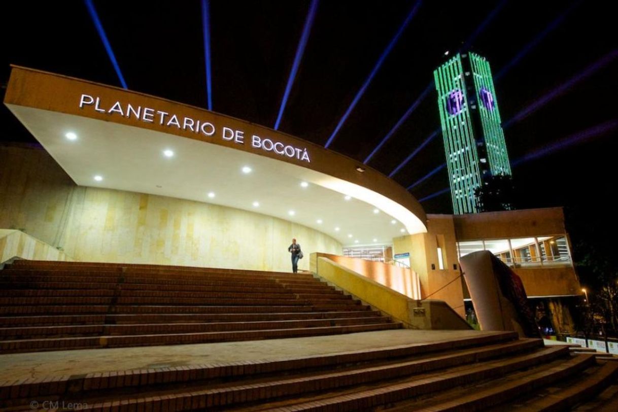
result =
[{"label": "both brick stair flights, above and below the pale landing", "polygon": [[[320,345],[321,334],[399,327],[306,274],[19,262],[0,279],[2,353],[298,336]],[[617,411],[610,359],[515,332],[396,347],[385,336],[319,355],[5,377],[0,410]]]}]

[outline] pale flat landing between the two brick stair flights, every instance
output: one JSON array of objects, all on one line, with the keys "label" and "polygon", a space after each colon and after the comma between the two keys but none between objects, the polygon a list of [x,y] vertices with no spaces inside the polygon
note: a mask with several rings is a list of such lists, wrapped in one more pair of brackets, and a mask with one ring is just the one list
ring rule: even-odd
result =
[{"label": "pale flat landing between the two brick stair flights", "polygon": [[357,334],[0,355],[0,381],[130,369],[273,360],[500,335],[476,330],[379,330]]}]

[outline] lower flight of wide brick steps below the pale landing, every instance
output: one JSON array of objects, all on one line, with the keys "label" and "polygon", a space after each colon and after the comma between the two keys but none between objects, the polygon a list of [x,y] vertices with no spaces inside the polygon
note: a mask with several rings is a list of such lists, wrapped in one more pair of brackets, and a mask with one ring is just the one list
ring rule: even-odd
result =
[{"label": "lower flight of wide brick steps below the pale landing", "polygon": [[[398,347],[0,383],[92,411],[616,411],[618,362],[496,332]],[[48,404],[49,405],[49,404]]]}]

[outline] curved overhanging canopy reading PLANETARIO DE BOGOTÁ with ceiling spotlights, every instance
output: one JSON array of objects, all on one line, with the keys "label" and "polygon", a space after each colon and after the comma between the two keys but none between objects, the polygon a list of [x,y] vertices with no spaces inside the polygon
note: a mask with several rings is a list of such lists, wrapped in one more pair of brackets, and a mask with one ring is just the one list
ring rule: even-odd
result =
[{"label": "curved overhanging canopy reading PLANETARIO DE BOGOT\u00c1 with ceiling spotlights", "polygon": [[[425,212],[405,188],[371,167],[270,128],[16,66],[4,104],[77,185],[245,209],[349,246],[426,232]],[[164,156],[165,150],[173,156]],[[94,180],[97,175],[102,180]]]}]

